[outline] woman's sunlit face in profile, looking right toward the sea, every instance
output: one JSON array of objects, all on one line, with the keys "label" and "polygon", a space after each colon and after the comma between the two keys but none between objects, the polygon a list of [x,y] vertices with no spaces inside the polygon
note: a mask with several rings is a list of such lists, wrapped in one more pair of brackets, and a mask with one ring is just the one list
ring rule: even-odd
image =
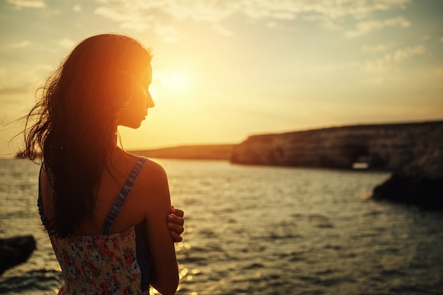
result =
[{"label": "woman's sunlit face in profile, looking right toward the sea", "polygon": [[152,67],[149,65],[146,74],[135,81],[130,88],[129,102],[120,113],[117,125],[137,129],[148,115],[148,108],[154,108],[154,100],[149,93],[152,81]]}]

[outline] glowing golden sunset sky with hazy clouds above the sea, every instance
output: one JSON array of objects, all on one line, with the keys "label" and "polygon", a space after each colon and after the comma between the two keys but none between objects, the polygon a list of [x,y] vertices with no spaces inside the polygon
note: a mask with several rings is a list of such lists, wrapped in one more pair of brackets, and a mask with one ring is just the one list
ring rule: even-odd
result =
[{"label": "glowing golden sunset sky with hazy clouds above the sea", "polygon": [[125,149],[443,120],[442,0],[1,0],[0,156],[9,122],[76,43],[125,33],[154,52],[156,107]]}]

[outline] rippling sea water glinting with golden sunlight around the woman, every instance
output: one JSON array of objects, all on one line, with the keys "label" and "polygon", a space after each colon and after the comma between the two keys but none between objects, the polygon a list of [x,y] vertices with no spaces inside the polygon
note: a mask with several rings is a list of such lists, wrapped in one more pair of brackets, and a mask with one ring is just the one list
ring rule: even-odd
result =
[{"label": "rippling sea water glinting with golden sunlight around the woman", "polygon": [[[389,173],[156,160],[185,210],[177,294],[443,294],[443,213],[367,199]],[[0,238],[37,250],[0,294],[63,282],[36,207],[39,166],[0,159]]]}]

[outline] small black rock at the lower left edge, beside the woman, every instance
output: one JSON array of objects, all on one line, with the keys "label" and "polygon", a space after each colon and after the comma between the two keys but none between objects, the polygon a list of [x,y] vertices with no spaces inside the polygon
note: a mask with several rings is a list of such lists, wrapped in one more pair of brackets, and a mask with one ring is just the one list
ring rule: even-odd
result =
[{"label": "small black rock at the lower left edge, beside the woman", "polygon": [[18,236],[0,239],[0,274],[28,260],[35,250],[33,236]]}]

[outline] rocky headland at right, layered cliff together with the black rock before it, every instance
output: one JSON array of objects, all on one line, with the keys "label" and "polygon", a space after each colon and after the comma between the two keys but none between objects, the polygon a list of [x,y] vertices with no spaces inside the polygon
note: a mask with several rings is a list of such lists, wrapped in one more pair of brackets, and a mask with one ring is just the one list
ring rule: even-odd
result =
[{"label": "rocky headland at right, layered cliff together with the black rock before it", "polygon": [[373,199],[443,209],[443,121],[254,135],[234,146],[231,162],[388,170]]}]

